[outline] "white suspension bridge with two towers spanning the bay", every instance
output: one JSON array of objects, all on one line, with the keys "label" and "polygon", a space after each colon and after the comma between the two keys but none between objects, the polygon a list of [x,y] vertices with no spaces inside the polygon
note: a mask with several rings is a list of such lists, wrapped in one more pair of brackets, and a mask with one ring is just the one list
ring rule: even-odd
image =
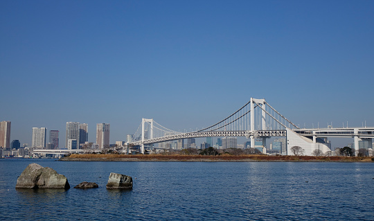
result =
[{"label": "white suspension bridge with two towers spanning the bay", "polygon": [[153,119],[143,118],[132,140],[127,141],[127,145],[139,145],[141,153],[144,153],[145,145],[153,143],[211,136],[244,136],[250,139],[251,148],[255,148],[255,139],[262,139],[262,142],[266,143],[268,137],[284,136],[287,140],[286,154],[290,154],[290,148],[297,145],[305,150],[306,155],[311,155],[316,149],[321,152],[330,151],[327,137],[331,136],[353,137],[357,147],[359,141],[367,140],[371,148],[373,134],[374,127],[340,130],[301,129],[271,107],[265,99],[251,98],[248,103],[222,121],[194,132],[177,132],[163,127]]}]

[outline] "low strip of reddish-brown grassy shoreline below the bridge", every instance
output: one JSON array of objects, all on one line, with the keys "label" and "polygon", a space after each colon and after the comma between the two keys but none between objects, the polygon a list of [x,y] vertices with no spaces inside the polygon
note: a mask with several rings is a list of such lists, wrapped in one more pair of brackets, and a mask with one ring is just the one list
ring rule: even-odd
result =
[{"label": "low strip of reddish-brown grassy shoreline below the bridge", "polygon": [[285,162],[373,162],[372,157],[312,157],[312,156],[267,156],[267,155],[230,155],[217,156],[181,154],[71,154],[60,161],[285,161]]}]

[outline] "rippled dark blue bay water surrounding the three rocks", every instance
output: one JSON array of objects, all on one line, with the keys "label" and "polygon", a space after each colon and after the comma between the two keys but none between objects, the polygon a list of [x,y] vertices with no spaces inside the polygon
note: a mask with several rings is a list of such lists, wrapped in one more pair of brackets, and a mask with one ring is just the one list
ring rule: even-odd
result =
[{"label": "rippled dark blue bay water surrounding the three rocks", "polygon": [[[29,163],[71,188],[16,190]],[[109,173],[132,191],[108,191]],[[374,163],[0,160],[0,220],[374,220]],[[80,190],[80,182],[99,188]]]}]

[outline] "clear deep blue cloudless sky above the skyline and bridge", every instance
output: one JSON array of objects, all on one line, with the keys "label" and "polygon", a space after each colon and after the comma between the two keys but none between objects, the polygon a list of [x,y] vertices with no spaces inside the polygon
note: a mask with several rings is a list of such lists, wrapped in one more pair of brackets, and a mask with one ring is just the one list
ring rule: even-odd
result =
[{"label": "clear deep blue cloudless sky above the skyline and bridge", "polygon": [[[265,98],[296,125],[374,126],[374,1],[0,1],[0,121],[212,125]],[[48,139],[47,139],[48,142]],[[343,144],[344,145],[344,144]],[[334,145],[333,145],[334,146]]]}]

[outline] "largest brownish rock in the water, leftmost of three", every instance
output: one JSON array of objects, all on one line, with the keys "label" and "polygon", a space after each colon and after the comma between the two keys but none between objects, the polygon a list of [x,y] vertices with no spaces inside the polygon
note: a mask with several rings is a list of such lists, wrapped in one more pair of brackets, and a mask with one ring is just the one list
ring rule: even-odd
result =
[{"label": "largest brownish rock in the water, leftmost of three", "polygon": [[70,188],[64,175],[37,163],[29,164],[17,179],[16,188]]}]

